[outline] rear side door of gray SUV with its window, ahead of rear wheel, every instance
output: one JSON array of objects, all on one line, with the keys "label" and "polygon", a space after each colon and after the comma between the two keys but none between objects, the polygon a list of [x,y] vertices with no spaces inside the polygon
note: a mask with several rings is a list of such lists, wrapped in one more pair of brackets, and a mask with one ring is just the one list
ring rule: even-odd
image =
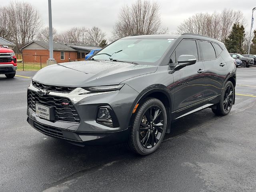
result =
[{"label": "rear side door of gray SUV with its window, ahead of rear wheel", "polygon": [[221,57],[223,50],[218,44],[203,40],[198,42],[205,69],[204,104],[215,104],[220,98],[228,67]]}]

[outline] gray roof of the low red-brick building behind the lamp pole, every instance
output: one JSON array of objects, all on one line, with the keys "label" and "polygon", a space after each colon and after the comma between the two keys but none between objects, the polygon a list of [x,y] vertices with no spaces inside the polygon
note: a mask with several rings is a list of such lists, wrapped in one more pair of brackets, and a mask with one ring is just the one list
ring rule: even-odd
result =
[{"label": "gray roof of the low red-brick building behind the lamp pole", "polygon": [[[49,50],[49,42],[47,41],[32,41],[29,44],[35,42],[36,44],[39,44],[40,46],[46,48]],[[21,48],[24,49],[29,44],[26,44],[24,47]],[[83,49],[83,50],[93,50],[98,49],[100,47],[90,46],[86,44],[75,44],[75,43],[61,43],[61,42],[53,42],[53,50],[54,51],[76,51],[76,49]]]}]

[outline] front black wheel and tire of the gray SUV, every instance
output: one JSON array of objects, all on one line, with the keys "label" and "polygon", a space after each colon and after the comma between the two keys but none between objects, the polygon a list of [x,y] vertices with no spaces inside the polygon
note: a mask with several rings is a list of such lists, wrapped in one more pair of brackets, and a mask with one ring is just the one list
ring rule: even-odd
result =
[{"label": "front black wheel and tire of the gray SUV", "polygon": [[156,98],[145,99],[134,116],[128,148],[140,155],[155,152],[164,138],[166,124],[164,104]]}]

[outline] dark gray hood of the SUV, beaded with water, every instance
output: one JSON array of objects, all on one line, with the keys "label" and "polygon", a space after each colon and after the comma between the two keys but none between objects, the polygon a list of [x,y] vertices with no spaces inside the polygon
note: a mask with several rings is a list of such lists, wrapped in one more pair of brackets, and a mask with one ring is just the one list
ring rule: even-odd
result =
[{"label": "dark gray hood of the SUV, beaded with water", "polygon": [[89,87],[120,84],[156,72],[157,66],[111,61],[79,61],[47,66],[32,78],[46,85]]}]

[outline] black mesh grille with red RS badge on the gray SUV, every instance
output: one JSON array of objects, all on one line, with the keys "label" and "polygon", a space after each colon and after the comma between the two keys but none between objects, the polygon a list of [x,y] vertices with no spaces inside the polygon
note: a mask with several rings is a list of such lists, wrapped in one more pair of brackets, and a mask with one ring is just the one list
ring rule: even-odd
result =
[{"label": "black mesh grille with red RS badge on the gray SUV", "polygon": [[[63,105],[62,103],[68,103]],[[36,104],[41,104],[48,107],[54,107],[54,119],[56,121],[66,121],[66,122],[80,122],[80,118],[76,112],[75,107],[72,102],[67,98],[62,98],[58,96],[40,96],[38,93],[33,91],[28,91],[28,106],[29,108],[36,112]]]}]

